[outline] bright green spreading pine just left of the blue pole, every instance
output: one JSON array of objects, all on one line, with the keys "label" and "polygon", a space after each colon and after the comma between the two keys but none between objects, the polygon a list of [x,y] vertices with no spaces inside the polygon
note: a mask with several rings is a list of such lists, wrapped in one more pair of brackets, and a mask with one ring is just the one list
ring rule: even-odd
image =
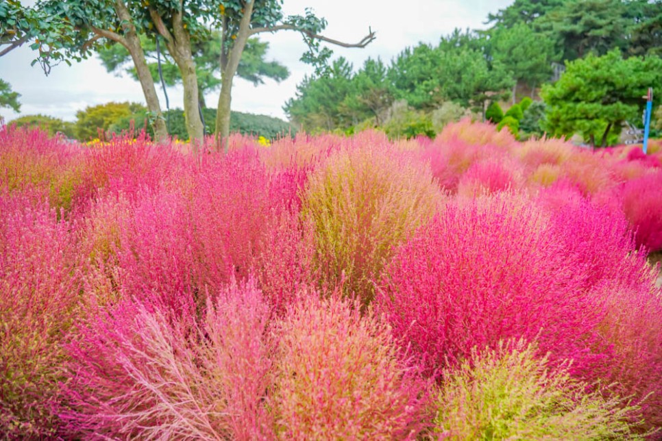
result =
[{"label": "bright green spreading pine just left of the blue pole", "polygon": [[648,87],[662,86],[662,59],[630,57],[619,51],[588,55],[566,64],[555,84],[543,86],[549,106],[545,129],[554,136],[580,132],[592,146],[604,147],[628,119],[641,115]]}]

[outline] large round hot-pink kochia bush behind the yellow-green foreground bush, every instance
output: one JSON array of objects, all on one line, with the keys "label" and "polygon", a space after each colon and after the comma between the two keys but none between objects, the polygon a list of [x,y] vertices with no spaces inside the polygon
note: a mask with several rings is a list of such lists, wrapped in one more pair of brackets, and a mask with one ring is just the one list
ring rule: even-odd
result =
[{"label": "large round hot-pink kochia bush behind the yellow-green foreground bush", "polygon": [[545,216],[512,194],[460,204],[422,228],[387,269],[378,309],[395,336],[411,343],[428,373],[474,346],[522,337],[553,360],[574,359],[574,372],[591,370],[606,355],[587,351],[604,313]]}]

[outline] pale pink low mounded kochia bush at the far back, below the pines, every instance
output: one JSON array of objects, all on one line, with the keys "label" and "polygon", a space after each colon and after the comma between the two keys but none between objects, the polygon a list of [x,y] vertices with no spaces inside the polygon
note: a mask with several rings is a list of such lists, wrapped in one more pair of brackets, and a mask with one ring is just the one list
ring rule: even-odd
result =
[{"label": "pale pink low mounded kochia bush at the far back, below the pines", "polygon": [[515,144],[515,137],[510,131],[497,131],[495,125],[472,122],[471,118],[463,118],[458,123],[446,125],[434,140],[435,142],[459,140],[467,144],[480,146],[492,144],[505,150],[510,149]]}]

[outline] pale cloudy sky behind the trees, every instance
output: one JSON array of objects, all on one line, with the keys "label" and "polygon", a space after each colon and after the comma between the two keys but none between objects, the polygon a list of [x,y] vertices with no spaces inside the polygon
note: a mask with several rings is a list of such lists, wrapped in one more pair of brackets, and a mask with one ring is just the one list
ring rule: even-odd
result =
[{"label": "pale cloudy sky behind the trees", "polygon": [[[24,2],[32,3],[32,2]],[[345,57],[358,70],[367,58],[390,62],[403,49],[419,42],[437,43],[453,29],[483,29],[489,12],[497,12],[513,0],[285,0],[285,15],[302,14],[312,8],[328,21],[324,35],[345,42],[358,42],[369,30],[376,31],[376,40],[365,49],[345,49],[330,46],[334,58]],[[286,119],[284,103],[295,96],[296,86],[313,71],[312,66],[299,61],[306,45],[299,34],[280,31],[261,34],[269,42],[269,60],[278,60],[290,71],[290,77],[276,83],[253,86],[235,78],[232,89],[232,110],[265,114]],[[46,114],[65,121],[75,121],[77,110],[108,101],[144,103],[138,81],[126,74],[108,73],[94,56],[71,67],[60,64],[45,76],[28,45],[0,57],[0,78],[8,81],[21,97],[21,113],[0,108],[0,116],[11,121],[17,116]],[[167,89],[171,108],[182,108],[181,86]],[[161,106],[165,108],[163,91],[158,86]],[[215,107],[219,93],[205,96],[208,107]]]}]

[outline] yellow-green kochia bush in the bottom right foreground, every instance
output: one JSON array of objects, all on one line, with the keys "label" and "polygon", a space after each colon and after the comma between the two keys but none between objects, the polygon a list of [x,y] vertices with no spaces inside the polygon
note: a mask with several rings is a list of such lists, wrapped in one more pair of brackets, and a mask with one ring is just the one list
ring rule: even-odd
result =
[{"label": "yellow-green kochia bush in the bottom right foreground", "polygon": [[568,363],[551,368],[522,339],[478,351],[445,373],[435,429],[449,440],[604,440],[637,438],[639,409],[587,392]]}]

